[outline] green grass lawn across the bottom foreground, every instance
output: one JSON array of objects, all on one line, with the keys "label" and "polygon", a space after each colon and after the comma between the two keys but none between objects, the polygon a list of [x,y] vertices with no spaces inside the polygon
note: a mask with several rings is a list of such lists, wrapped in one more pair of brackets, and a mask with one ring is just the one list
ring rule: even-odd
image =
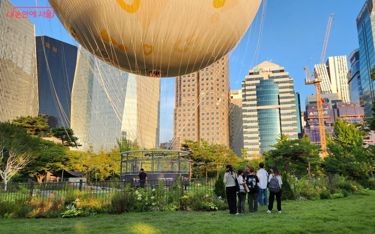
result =
[{"label": "green grass lawn across the bottom foreground", "polygon": [[282,214],[145,212],[71,219],[0,219],[2,234],[39,233],[374,233],[375,191],[338,200],[287,201]]}]

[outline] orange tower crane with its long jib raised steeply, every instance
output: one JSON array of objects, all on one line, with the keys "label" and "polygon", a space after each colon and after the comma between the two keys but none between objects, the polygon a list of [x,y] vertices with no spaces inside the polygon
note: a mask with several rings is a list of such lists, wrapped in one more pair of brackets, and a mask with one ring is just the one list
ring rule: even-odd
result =
[{"label": "orange tower crane with its long jib raised steeply", "polygon": [[[331,30],[331,25],[332,25],[332,19],[333,15],[328,19],[328,24],[327,24],[327,29],[326,29],[326,36],[324,37],[324,44],[323,44],[323,51],[320,57],[320,63],[324,63],[324,56],[326,55],[326,50],[327,50],[327,44],[328,44],[328,37],[329,33]],[[305,78],[305,85],[315,85],[315,92],[316,92],[316,97],[317,97],[317,112],[318,112],[318,124],[319,124],[319,134],[320,134],[320,142],[321,142],[321,147],[322,147],[322,158],[324,159],[325,156],[327,156],[327,140],[326,140],[326,131],[324,128],[324,116],[323,116],[323,102],[321,98],[321,88],[320,88],[320,74],[319,70],[317,70],[316,73],[314,73],[314,76],[311,75],[309,69],[305,66],[306,70],[306,78]]]}]

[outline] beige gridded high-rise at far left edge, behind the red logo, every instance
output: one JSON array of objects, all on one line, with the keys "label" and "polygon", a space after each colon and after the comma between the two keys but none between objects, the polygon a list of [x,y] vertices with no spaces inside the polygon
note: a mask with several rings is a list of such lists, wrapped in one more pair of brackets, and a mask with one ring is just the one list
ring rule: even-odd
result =
[{"label": "beige gridded high-rise at far left edge, behind the red logo", "polygon": [[35,27],[13,7],[0,1],[0,121],[38,114]]}]

